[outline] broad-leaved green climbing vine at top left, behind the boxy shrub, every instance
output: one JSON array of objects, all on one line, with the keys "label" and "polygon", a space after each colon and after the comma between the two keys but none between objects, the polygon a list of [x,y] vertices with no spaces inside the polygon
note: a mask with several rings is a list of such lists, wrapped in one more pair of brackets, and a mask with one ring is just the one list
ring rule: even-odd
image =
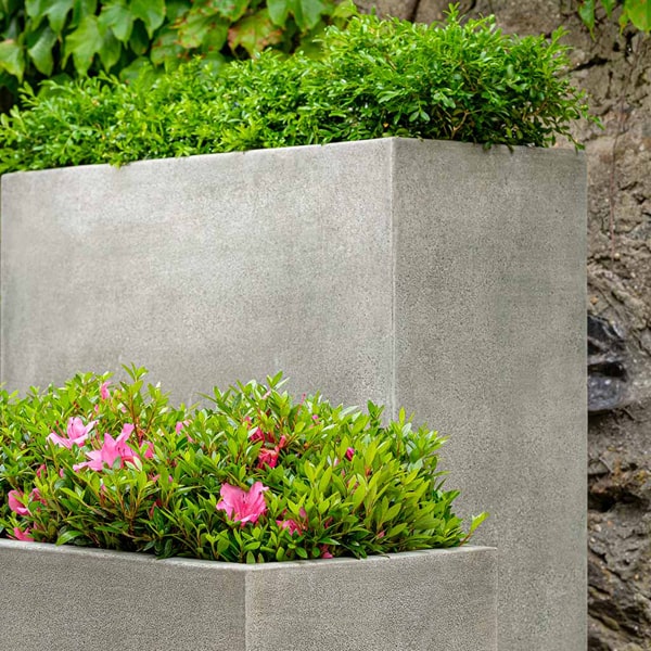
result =
[{"label": "broad-leaved green climbing vine at top left, behind the boxy shrub", "polygon": [[0,0],[0,89],[52,75],[133,74],[193,55],[221,64],[267,46],[290,52],[345,21],[334,0]]}]

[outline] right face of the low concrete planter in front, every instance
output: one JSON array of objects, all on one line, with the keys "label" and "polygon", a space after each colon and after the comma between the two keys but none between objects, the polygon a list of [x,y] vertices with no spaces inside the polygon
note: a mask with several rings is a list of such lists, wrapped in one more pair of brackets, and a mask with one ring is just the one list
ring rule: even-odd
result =
[{"label": "right face of the low concrete planter in front", "polygon": [[247,576],[248,651],[496,651],[494,549],[279,564]]}]

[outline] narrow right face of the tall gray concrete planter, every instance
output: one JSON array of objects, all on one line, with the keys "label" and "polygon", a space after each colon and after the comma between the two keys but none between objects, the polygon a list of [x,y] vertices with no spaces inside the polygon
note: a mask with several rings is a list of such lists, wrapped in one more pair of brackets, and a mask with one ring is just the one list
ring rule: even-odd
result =
[{"label": "narrow right face of the tall gray concrete planter", "polygon": [[490,512],[500,651],[586,648],[585,162],[398,141],[396,404]]}]

